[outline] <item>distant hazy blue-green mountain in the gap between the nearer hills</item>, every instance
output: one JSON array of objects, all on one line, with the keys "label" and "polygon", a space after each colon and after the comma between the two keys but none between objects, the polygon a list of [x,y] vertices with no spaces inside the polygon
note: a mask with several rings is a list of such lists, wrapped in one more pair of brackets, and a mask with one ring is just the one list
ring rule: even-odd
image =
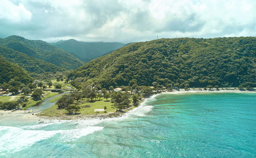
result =
[{"label": "distant hazy blue-green mountain in the gap between the nearer hills", "polygon": [[51,44],[68,52],[73,52],[83,62],[89,62],[125,45],[118,42],[79,42],[74,39],[61,40]]}]

